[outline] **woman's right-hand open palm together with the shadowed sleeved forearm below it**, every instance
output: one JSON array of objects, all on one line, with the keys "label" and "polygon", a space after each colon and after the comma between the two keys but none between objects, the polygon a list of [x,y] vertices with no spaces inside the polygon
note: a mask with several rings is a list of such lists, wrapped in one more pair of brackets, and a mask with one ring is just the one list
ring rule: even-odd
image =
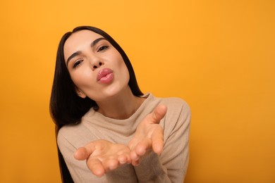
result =
[{"label": "woman's right-hand open palm together with the shadowed sleeved forearm below it", "polygon": [[135,136],[128,144],[138,182],[171,182],[159,159],[164,149],[164,131],[159,122],[166,111],[166,106],[157,106],[140,122]]}]

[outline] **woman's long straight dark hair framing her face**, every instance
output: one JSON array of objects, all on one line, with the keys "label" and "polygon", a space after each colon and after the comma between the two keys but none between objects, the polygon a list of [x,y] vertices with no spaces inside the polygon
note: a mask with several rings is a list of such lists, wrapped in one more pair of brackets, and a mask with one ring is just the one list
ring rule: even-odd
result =
[{"label": "woman's long straight dark hair framing her face", "polygon": [[[126,53],[123,51],[121,46],[106,32],[100,30],[97,27],[90,26],[80,26],[75,27],[72,32],[67,32],[61,38],[59,42],[59,47],[56,55],[56,68],[54,72],[54,82],[51,89],[51,99],[50,99],[50,113],[51,118],[54,120],[56,124],[56,136],[59,132],[59,129],[63,125],[69,124],[78,124],[82,118],[82,116],[90,110],[90,108],[97,106],[97,103],[92,99],[86,97],[85,99],[80,98],[75,93],[75,84],[73,80],[71,80],[71,76],[66,67],[63,48],[68,37],[71,36],[74,32],[78,32],[80,30],[90,30],[97,34],[102,35],[107,41],[109,41],[114,48],[121,53],[124,63],[128,68],[128,72],[130,75],[130,80],[128,85],[135,96],[141,96],[142,92],[138,87],[138,82],[135,78],[135,72],[133,70],[133,66],[130,63],[130,60]],[[59,149],[58,149],[59,151]],[[61,177],[63,182],[73,182],[70,173],[68,172],[68,168],[66,167],[66,163],[59,151],[59,165],[61,168]]]}]

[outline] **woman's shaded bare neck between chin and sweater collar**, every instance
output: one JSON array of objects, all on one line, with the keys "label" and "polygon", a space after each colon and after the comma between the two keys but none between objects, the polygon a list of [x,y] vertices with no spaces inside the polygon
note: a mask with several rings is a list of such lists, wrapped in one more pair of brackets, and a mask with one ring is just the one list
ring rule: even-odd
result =
[{"label": "woman's shaded bare neck between chin and sweater collar", "polygon": [[98,101],[97,105],[99,109],[97,112],[109,118],[124,120],[130,118],[144,100],[143,98],[134,96],[130,87],[128,87],[123,92],[111,97],[111,99]]}]

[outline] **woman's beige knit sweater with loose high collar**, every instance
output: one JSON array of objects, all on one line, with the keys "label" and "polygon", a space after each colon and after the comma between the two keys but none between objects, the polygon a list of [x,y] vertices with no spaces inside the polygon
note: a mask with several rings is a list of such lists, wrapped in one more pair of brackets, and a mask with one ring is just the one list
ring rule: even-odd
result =
[{"label": "woman's beige knit sweater with loose high collar", "polygon": [[[59,149],[74,182],[183,182],[189,159],[190,108],[178,98],[160,99],[152,94],[142,97],[147,99],[126,120],[107,118],[90,109],[79,125],[67,125],[59,130]],[[167,106],[166,116],[160,122],[164,128],[164,151],[160,156],[150,153],[140,165],[123,165],[100,178],[90,172],[85,160],[73,158],[76,149],[97,139],[127,145],[139,122],[160,103]]]}]

